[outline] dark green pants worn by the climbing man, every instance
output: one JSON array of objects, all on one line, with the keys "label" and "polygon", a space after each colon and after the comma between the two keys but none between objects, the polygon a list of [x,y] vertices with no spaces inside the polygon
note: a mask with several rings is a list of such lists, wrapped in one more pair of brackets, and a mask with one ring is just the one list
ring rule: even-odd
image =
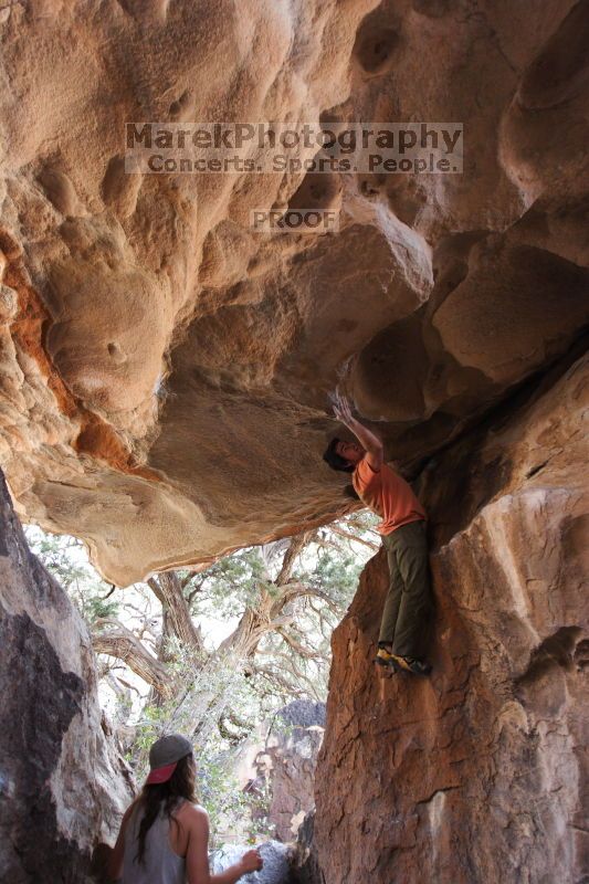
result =
[{"label": "dark green pants worn by the climbing man", "polygon": [[389,591],[379,644],[399,656],[421,657],[432,611],[425,523],[410,522],[382,537],[389,562]]}]

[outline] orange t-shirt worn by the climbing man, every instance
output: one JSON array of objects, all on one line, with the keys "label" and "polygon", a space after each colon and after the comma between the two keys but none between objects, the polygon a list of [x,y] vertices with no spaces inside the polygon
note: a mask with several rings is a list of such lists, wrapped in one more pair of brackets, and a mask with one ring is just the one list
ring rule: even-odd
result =
[{"label": "orange t-shirt worn by the climbing man", "polygon": [[382,519],[377,525],[379,534],[391,534],[401,525],[427,518],[409,483],[386,463],[375,472],[365,455],[356,465],[351,482],[361,502]]}]

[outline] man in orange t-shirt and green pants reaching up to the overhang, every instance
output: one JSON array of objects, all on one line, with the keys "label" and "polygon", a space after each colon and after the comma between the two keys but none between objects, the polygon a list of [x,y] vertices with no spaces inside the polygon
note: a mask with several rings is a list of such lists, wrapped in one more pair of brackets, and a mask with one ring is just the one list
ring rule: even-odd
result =
[{"label": "man in orange t-shirt and green pants reaching up to the overhang", "polygon": [[387,549],[390,583],[376,662],[428,675],[431,666],[422,653],[432,596],[425,511],[404,478],[385,463],[380,439],[351,417],[347,400],[338,394],[334,412],[360,444],[333,439],[324,460],[333,470],[353,473],[358,496],[381,518],[377,530]]}]

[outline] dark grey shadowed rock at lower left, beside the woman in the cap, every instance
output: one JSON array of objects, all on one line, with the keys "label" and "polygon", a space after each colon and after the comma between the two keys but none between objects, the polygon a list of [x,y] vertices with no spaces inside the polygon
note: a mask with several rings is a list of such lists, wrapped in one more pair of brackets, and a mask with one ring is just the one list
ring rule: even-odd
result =
[{"label": "dark grey shadowed rock at lower left, beside the woman in the cap", "polygon": [[0,880],[83,884],[132,798],[108,740],[94,653],[27,547],[0,474]]}]

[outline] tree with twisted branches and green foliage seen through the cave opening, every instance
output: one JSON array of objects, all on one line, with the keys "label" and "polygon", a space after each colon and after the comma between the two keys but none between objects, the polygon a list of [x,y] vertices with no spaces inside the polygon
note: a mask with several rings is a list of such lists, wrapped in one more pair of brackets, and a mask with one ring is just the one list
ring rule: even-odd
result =
[{"label": "tree with twisted branches and green foliage seen through the cave opening", "polygon": [[[198,746],[203,792],[230,803],[219,791],[225,750],[291,699],[325,699],[333,629],[378,549],[374,522],[354,514],[132,590],[102,581],[80,541],[28,530],[88,623],[139,777],[151,740],[181,730]],[[220,641],[212,617],[234,623]]]}]

